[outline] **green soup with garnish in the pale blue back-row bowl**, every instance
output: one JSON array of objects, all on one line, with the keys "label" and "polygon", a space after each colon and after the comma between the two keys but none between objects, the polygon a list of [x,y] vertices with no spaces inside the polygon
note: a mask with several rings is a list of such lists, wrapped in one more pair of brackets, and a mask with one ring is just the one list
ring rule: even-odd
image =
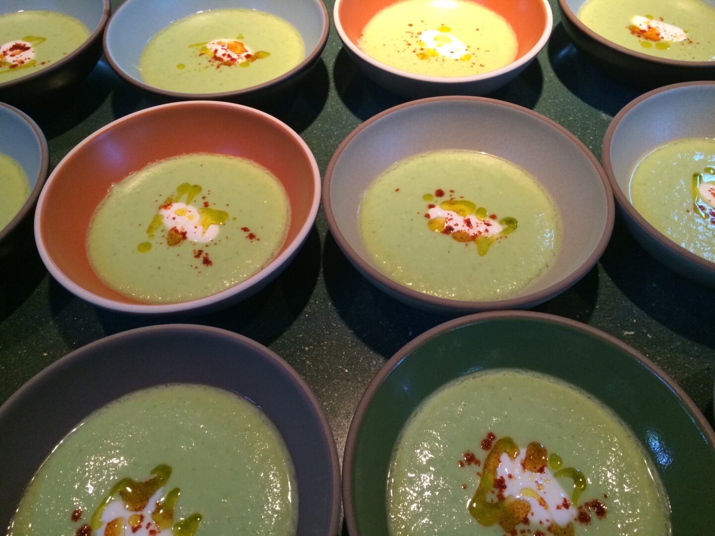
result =
[{"label": "green soup with garnish in the pale blue back-row bowl", "polygon": [[187,16],[152,37],[139,73],[154,87],[219,93],[275,79],[305,58],[297,29],[254,9],[215,9]]}]

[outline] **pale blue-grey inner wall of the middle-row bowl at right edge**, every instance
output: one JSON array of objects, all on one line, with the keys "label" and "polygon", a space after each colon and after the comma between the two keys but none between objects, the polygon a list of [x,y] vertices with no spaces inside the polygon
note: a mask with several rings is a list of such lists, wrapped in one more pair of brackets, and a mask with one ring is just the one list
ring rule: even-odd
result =
[{"label": "pale blue-grey inner wall of the middle-row bowl at right edge", "polygon": [[608,147],[616,184],[628,202],[633,167],[654,147],[674,139],[715,138],[715,84],[687,84],[636,104],[618,121]]}]

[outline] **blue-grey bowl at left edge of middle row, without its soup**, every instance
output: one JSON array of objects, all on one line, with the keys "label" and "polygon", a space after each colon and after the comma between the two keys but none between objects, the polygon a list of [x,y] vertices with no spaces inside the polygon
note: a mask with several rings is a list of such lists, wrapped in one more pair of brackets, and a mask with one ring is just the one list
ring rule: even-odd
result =
[{"label": "blue-grey bowl at left edge of middle row, without its soup", "polygon": [[[31,214],[40,195],[49,166],[47,140],[40,127],[23,111],[0,102],[0,153],[25,170],[30,195],[10,222],[0,229],[0,260],[16,250],[29,231]],[[0,192],[0,195],[2,192]]]}]

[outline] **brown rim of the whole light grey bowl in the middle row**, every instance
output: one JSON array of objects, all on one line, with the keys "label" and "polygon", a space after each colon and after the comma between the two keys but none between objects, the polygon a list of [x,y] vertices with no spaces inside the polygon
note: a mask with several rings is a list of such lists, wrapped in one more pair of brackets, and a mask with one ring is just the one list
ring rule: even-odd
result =
[{"label": "brown rim of the whole light grey bowl in the middle row", "polygon": [[[418,292],[416,290],[405,287],[398,282],[393,281],[393,279],[390,279],[390,277],[383,274],[383,272],[380,272],[380,270],[373,267],[372,264],[365,261],[363,257],[360,257],[360,255],[355,252],[355,249],[353,249],[353,247],[347,241],[345,236],[340,231],[340,227],[338,227],[337,225],[335,214],[333,214],[332,211],[332,201],[330,199],[332,173],[335,169],[335,166],[337,165],[338,159],[340,159],[340,156],[342,156],[342,152],[345,151],[347,145],[350,144],[350,142],[352,142],[352,139],[355,139],[355,137],[357,137],[358,134],[363,131],[363,129],[379,121],[384,116],[392,114],[395,111],[400,111],[402,109],[408,108],[410,106],[430,105],[439,101],[471,101],[474,103],[495,104],[497,106],[504,106],[506,108],[511,108],[516,111],[521,111],[528,116],[540,119],[548,126],[551,126],[553,129],[556,129],[561,134],[565,135],[569,141],[576,145],[576,149],[579,149],[581,152],[583,152],[583,154],[588,158],[591,164],[593,164],[593,167],[598,174],[598,177],[601,179],[601,184],[603,186],[603,194],[606,198],[606,218],[604,222],[603,234],[601,234],[601,239],[599,239],[598,244],[596,244],[596,247],[593,249],[593,252],[591,252],[591,254],[586,257],[584,262],[582,262],[578,267],[576,267],[576,269],[573,269],[571,273],[567,274],[566,277],[559,279],[557,282],[549,285],[544,289],[505,299],[495,299],[492,301],[479,302],[436,297],[430,296],[429,294],[424,294],[423,292]],[[601,167],[601,164],[598,162],[596,157],[593,156],[593,153],[588,150],[588,147],[586,147],[586,145],[583,144],[581,140],[579,140],[574,134],[565,129],[563,126],[556,123],[556,121],[548,119],[548,117],[538,114],[536,111],[524,108],[523,106],[518,106],[517,104],[512,104],[511,102],[500,101],[497,99],[489,99],[488,97],[483,96],[433,96],[429,97],[428,99],[408,101],[404,104],[393,106],[393,108],[380,112],[380,114],[377,114],[368,119],[367,121],[364,121],[362,124],[360,124],[360,126],[350,132],[350,134],[348,134],[348,136],[342,141],[340,146],[337,147],[335,153],[332,155],[330,163],[327,165],[327,169],[325,170],[325,179],[323,179],[322,183],[322,204],[323,208],[325,209],[325,217],[327,219],[328,227],[330,228],[330,233],[335,238],[335,241],[337,242],[338,246],[340,246],[340,249],[342,249],[342,252],[346,254],[350,261],[354,264],[357,264],[360,270],[367,273],[370,278],[375,279],[375,281],[379,282],[381,285],[388,287],[391,291],[395,292],[396,294],[400,294],[401,296],[406,297],[413,302],[421,302],[423,304],[427,304],[430,307],[451,309],[455,312],[460,313],[488,311],[494,309],[518,309],[519,307],[524,307],[526,304],[538,304],[541,302],[545,302],[547,299],[550,299],[551,297],[554,297],[558,294],[561,294],[561,292],[566,291],[566,289],[571,287],[573,284],[576,284],[576,282],[578,282],[584,275],[586,275],[586,273],[588,273],[588,271],[593,268],[596,262],[598,262],[598,259],[601,258],[601,255],[606,250],[608,241],[611,239],[611,232],[613,232],[613,222],[616,214],[616,209],[613,204],[613,194],[611,194],[611,185],[606,178],[605,172],[603,172],[603,167]]]}]

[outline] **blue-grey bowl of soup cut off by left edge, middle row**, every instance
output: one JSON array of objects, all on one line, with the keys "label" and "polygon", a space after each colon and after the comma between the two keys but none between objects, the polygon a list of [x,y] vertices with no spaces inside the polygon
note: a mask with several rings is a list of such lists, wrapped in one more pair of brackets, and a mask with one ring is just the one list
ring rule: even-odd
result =
[{"label": "blue-grey bowl of soup cut off by left edge, middle row", "polygon": [[0,103],[0,259],[26,239],[48,166],[47,141],[39,126],[19,109]]}]

